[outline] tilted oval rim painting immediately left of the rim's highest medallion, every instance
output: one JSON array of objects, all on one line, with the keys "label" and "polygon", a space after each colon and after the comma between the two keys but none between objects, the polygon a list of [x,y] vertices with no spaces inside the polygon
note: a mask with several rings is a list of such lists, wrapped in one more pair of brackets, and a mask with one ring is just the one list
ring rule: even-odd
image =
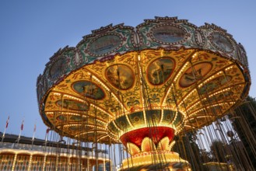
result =
[{"label": "tilted oval rim painting immediately left of the rim's highest medallion", "polygon": [[96,38],[92,44],[89,44],[89,52],[93,55],[100,56],[110,54],[121,45],[121,38],[115,34],[105,35]]}]

